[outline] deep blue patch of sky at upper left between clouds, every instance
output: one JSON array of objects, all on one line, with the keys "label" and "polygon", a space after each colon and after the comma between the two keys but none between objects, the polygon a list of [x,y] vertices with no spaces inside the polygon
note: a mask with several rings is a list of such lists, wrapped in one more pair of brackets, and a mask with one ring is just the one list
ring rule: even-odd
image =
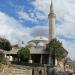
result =
[{"label": "deep blue patch of sky at upper left between clouds", "polygon": [[[35,0],[1,0],[0,1],[0,10],[7,15],[14,17],[18,20],[23,26],[33,27],[35,25],[44,25],[47,24],[47,19],[40,19],[37,17],[37,14],[40,16],[44,15],[41,10],[37,10],[36,7],[31,3]],[[18,13],[20,12],[20,13]],[[25,13],[24,13],[25,12]],[[22,14],[28,14],[28,16],[35,20],[25,19],[25,17],[20,17]],[[37,17],[37,18],[36,18]],[[20,21],[22,20],[22,21]]]}]

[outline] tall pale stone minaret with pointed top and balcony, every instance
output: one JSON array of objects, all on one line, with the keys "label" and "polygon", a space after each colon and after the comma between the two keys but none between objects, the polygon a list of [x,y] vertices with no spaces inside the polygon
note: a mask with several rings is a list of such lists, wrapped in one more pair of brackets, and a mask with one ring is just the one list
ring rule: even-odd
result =
[{"label": "tall pale stone minaret with pointed top and balcony", "polygon": [[51,41],[52,39],[56,38],[56,33],[55,33],[56,14],[54,13],[52,1],[50,6],[50,13],[48,14],[48,19],[49,19],[49,41]]}]

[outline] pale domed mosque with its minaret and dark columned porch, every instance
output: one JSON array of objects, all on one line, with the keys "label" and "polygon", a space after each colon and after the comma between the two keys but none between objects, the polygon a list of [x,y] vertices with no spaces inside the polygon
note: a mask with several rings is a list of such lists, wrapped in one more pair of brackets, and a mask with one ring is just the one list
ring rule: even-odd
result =
[{"label": "pale domed mosque with its minaret and dark columned porch", "polygon": [[35,39],[28,42],[27,46],[30,48],[32,62],[48,64],[49,52],[46,50],[46,45],[49,41],[56,38],[55,20],[56,14],[53,10],[53,3],[51,2],[49,19],[49,38],[38,36]]}]

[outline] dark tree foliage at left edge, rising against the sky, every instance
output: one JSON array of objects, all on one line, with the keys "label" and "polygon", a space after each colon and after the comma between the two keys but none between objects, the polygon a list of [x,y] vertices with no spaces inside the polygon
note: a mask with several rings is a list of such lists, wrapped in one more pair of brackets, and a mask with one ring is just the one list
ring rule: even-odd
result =
[{"label": "dark tree foliage at left edge, rising against the sky", "polygon": [[9,51],[12,49],[12,46],[7,39],[0,38],[0,49]]}]

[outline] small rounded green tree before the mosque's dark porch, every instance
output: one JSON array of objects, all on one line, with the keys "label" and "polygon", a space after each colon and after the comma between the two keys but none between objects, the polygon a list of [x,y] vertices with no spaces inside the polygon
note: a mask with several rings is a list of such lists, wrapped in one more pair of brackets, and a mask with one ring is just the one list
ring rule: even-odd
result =
[{"label": "small rounded green tree before the mosque's dark porch", "polygon": [[30,50],[28,47],[21,48],[18,52],[18,57],[21,59],[21,61],[27,61],[30,57]]}]

